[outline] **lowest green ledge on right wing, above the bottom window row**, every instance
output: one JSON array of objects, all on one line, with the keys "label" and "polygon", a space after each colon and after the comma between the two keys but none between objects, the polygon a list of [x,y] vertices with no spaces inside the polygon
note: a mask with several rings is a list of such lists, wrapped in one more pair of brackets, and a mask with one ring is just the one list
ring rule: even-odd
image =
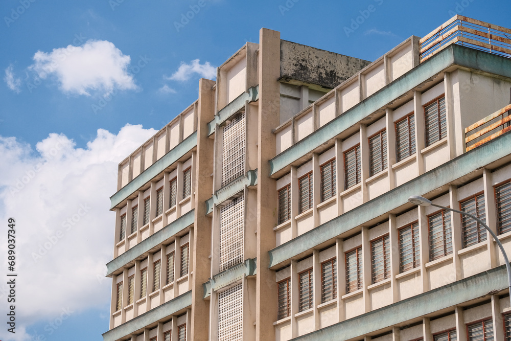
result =
[{"label": "lowest green ledge on right wing, above the bottom window row", "polygon": [[[505,266],[426,291],[419,295],[322,328],[293,340],[349,340],[407,322],[435,311],[483,297],[507,288]],[[454,310],[454,308],[453,308]]]}]

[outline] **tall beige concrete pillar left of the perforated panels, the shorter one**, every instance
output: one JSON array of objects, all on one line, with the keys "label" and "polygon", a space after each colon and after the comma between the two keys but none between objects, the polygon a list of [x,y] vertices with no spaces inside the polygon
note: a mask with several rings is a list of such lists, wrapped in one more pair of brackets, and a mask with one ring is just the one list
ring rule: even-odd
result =
[{"label": "tall beige concrete pillar left of the perforated panels, the shorter one", "polygon": [[[214,165],[213,150],[214,140],[207,137],[207,123],[213,119],[215,115],[215,90],[212,89],[215,84],[212,80],[201,79],[199,81],[199,105],[197,110],[197,154],[196,167],[193,168],[195,176],[193,177],[194,189],[213,188],[213,179],[211,173]],[[178,174],[178,178],[182,174]],[[178,180],[178,184],[179,184]],[[182,182],[182,181],[181,181]],[[182,185],[181,185],[182,192]],[[179,191],[178,191],[179,193]],[[182,195],[182,194],[181,194]],[[179,196],[179,194],[178,194]],[[210,325],[210,302],[202,299],[204,289],[202,283],[207,282],[211,275],[210,255],[212,250],[206,245],[211,245],[211,218],[206,216],[206,205],[204,202],[211,196],[208,190],[198,190],[195,192],[195,225],[193,233],[190,234],[190,265],[192,266],[192,311],[191,323],[188,325],[189,339],[191,340],[207,340],[208,326]],[[177,207],[179,209],[179,207]],[[176,240],[176,251],[174,259],[179,259],[179,241]],[[193,252],[193,255],[192,255]],[[175,268],[175,270],[178,270]],[[174,276],[176,277],[176,276]],[[174,285],[175,287],[176,285]],[[175,319],[173,319],[175,320]],[[177,339],[175,322],[172,326],[172,339]],[[188,331],[187,331],[188,333]]]}]

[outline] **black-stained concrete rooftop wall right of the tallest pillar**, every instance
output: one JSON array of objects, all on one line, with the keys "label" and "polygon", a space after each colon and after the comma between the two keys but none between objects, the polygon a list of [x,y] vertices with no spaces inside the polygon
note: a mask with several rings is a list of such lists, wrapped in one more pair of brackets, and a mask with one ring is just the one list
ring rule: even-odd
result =
[{"label": "black-stained concrete rooftop wall right of the tallest pillar", "polygon": [[281,40],[281,79],[332,89],[371,62]]}]

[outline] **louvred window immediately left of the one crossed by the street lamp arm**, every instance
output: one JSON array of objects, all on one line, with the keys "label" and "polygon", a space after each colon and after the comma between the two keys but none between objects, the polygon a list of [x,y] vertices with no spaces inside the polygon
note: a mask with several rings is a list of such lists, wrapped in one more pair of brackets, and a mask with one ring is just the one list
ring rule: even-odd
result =
[{"label": "louvred window immediately left of the one crossed by the street lamp arm", "polygon": [[447,210],[428,216],[429,260],[452,253],[451,214]]}]

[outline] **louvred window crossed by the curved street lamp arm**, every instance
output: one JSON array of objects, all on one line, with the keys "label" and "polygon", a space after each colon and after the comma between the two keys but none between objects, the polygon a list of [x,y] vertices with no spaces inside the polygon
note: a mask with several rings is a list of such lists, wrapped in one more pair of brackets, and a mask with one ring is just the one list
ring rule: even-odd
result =
[{"label": "louvred window crossed by the curved street lamp arm", "polygon": [[[486,220],[484,211],[484,193],[474,195],[459,203],[460,211],[467,212],[481,219]],[[476,220],[466,215],[461,215],[461,234],[463,247],[477,244],[486,240],[486,229]]]}]

